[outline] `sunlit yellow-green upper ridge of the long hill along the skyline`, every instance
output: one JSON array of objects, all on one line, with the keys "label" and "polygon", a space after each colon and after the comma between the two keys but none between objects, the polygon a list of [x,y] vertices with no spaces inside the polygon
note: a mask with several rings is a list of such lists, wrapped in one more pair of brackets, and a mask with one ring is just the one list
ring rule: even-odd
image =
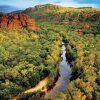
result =
[{"label": "sunlit yellow-green upper ridge of the long hill along the skyline", "polygon": [[73,8],[73,7],[64,7],[60,5],[54,4],[40,4],[36,5],[35,7],[30,7],[24,10],[23,12],[29,15],[34,14],[55,14],[55,13],[64,13],[64,12],[94,12],[100,11],[99,8],[92,8],[92,7],[80,7],[80,8]]}]

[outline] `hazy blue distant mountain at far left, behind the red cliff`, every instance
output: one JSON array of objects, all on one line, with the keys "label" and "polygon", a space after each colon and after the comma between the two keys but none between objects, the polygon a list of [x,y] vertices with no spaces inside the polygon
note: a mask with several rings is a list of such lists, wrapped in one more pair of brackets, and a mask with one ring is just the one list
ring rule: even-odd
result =
[{"label": "hazy blue distant mountain at far left, behind the red cliff", "polygon": [[18,10],[18,8],[13,7],[13,6],[8,6],[8,5],[0,5],[0,12],[4,12],[4,13],[10,13],[13,11]]}]

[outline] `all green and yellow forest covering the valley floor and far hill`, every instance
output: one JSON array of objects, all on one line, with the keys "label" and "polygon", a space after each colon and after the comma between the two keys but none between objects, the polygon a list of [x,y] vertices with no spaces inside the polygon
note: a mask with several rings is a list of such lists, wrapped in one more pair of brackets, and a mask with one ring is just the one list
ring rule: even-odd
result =
[{"label": "all green and yellow forest covering the valley floor and far hill", "polygon": [[56,99],[99,100],[100,9],[40,5],[22,13],[35,17],[38,28],[0,28],[0,100],[16,96],[17,100],[45,100],[41,90],[23,91],[45,77],[49,79],[47,88],[52,85],[59,74],[62,41],[73,72]]}]

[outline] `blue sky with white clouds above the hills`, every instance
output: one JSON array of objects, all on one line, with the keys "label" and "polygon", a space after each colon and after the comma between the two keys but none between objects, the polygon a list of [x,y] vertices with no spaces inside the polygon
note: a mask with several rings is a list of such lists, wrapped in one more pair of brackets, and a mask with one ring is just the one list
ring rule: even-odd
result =
[{"label": "blue sky with white clouds above the hills", "polygon": [[0,5],[10,5],[20,9],[34,7],[38,4],[56,4],[66,7],[100,8],[100,0],[0,0]]}]

